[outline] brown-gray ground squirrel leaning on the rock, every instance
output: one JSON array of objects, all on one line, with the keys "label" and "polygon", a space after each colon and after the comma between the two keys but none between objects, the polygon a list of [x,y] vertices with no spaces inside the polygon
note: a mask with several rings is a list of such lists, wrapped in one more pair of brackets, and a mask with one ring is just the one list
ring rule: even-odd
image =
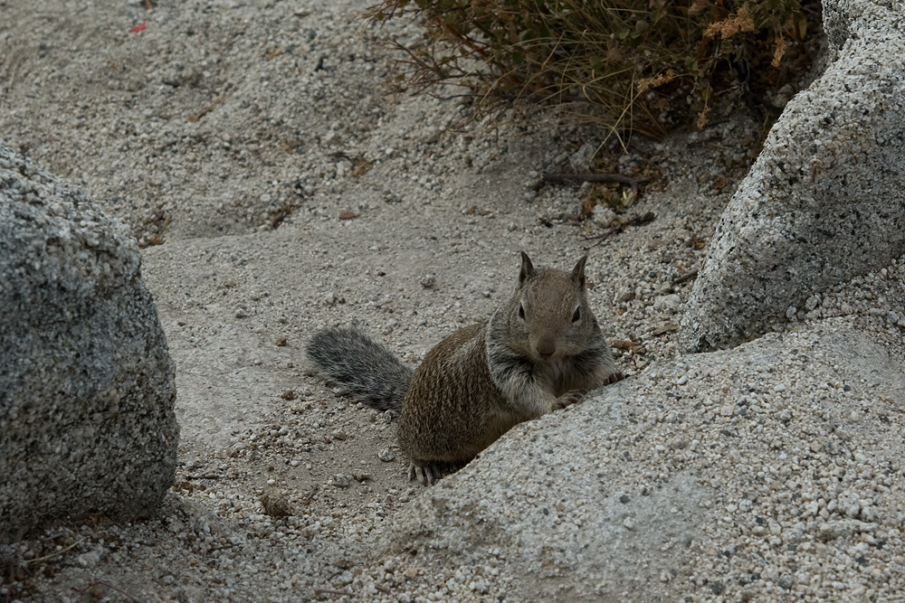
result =
[{"label": "brown-gray ground squirrel leaning on the rock", "polygon": [[621,380],[587,304],[585,262],[571,273],[534,268],[490,320],[449,335],[412,371],[356,328],[328,328],[306,345],[310,365],[352,398],[398,410],[409,481],[464,466],[511,427]]}]

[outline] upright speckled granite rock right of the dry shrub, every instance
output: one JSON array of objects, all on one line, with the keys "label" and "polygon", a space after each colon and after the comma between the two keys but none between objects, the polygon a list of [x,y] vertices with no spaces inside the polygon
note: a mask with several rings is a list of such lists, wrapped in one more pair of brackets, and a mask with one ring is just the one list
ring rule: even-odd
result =
[{"label": "upright speckled granite rock right of the dry shrub", "polygon": [[905,251],[905,7],[825,10],[838,56],[786,105],[723,213],[682,319],[686,351],[801,319],[809,297]]}]

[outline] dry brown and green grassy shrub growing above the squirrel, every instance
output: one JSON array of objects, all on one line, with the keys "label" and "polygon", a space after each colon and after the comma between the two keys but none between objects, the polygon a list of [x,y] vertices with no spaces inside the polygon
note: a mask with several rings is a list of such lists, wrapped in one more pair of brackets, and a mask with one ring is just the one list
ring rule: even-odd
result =
[{"label": "dry brown and green grassy shrub growing above the squirrel", "polygon": [[567,106],[623,137],[702,126],[718,95],[750,102],[783,85],[809,66],[802,42],[819,10],[818,0],[383,0],[370,17],[424,26],[425,43],[404,48],[403,89],[462,86],[479,117],[517,100]]}]

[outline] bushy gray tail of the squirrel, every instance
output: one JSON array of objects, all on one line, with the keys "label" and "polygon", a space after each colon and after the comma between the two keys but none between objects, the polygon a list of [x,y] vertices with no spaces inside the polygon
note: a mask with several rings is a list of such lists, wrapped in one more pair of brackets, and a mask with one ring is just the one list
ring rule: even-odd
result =
[{"label": "bushy gray tail of the squirrel", "polygon": [[310,362],[348,395],[377,410],[399,410],[414,372],[356,329],[323,329],[305,348]]}]

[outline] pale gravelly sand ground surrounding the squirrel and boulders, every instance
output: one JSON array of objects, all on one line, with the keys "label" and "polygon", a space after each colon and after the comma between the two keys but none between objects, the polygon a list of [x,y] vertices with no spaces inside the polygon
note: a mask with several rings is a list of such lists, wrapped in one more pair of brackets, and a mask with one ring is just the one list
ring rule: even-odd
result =
[{"label": "pale gravelly sand ground surrounding the squirrel and boulders", "polygon": [[[652,178],[626,215],[655,217],[599,239],[611,216],[579,219],[595,190],[533,184],[585,167],[605,134],[556,115],[476,127],[461,101],[390,94],[385,42],[419,33],[366,24],[367,4],[0,6],[3,140],[146,246],[182,430],[160,513],[23,542],[0,600],[436,595],[456,568],[368,554],[425,492],[405,481],[392,418],[334,396],[301,350],[357,322],[414,365],[509,295],[519,250],[564,268],[589,253],[605,333],[635,344],[624,372],[675,355],[691,280],[675,281],[700,266],[760,124],[604,145],[602,167]],[[498,573],[463,584],[503,600]]]}]

